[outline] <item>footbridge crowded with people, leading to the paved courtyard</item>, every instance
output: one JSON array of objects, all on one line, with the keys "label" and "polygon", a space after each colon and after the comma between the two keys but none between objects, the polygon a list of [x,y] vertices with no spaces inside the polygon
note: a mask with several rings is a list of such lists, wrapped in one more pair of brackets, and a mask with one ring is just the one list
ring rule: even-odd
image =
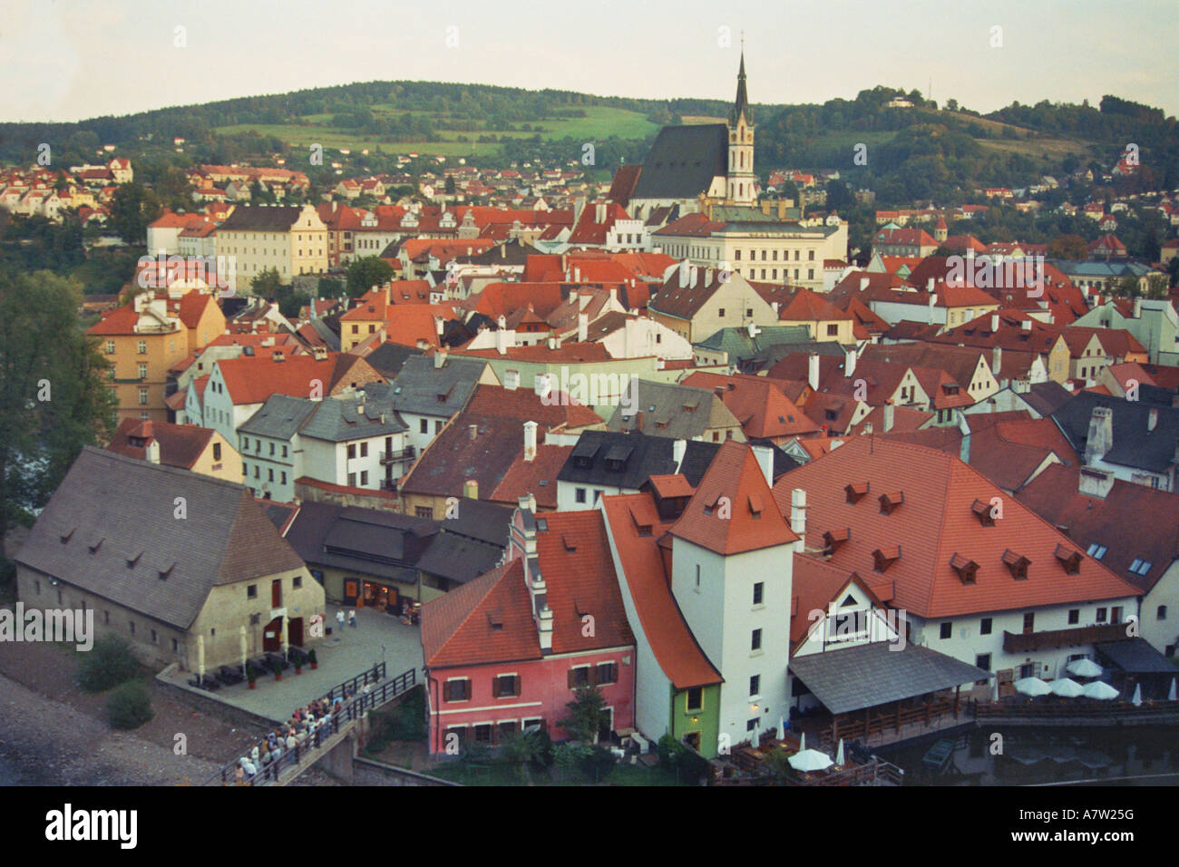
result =
[{"label": "footbridge crowded with people, leading to the paved courtyard", "polygon": [[[417,685],[417,670],[408,669],[396,677],[381,681],[384,676],[384,663],[375,665],[350,681],[334,687],[324,697],[330,702],[353,695],[351,698],[337,704],[332,712],[323,717],[315,733],[294,749],[283,748],[282,755],[258,768],[258,773],[249,781],[250,786],[289,786],[303,771],[329,756],[329,766],[336,767],[350,775],[353,756],[355,755],[356,730],[364,715],[382,704],[408,692]],[[375,685],[369,685],[369,679]],[[358,695],[354,695],[360,687]],[[232,786],[239,758],[233,758],[222,766],[217,774],[206,780],[203,786]]]}]

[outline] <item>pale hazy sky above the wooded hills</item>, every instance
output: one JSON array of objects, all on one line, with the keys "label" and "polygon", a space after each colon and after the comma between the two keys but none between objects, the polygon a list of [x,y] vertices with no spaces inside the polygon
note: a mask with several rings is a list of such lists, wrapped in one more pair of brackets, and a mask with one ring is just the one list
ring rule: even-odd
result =
[{"label": "pale hazy sky above the wooded hills", "polygon": [[[753,103],[850,99],[878,84],[926,93],[933,79],[934,99],[982,112],[1113,93],[1179,113],[1177,0],[0,0],[0,9],[2,120],[374,79],[732,99],[742,31]],[[1002,47],[992,47],[996,37]]]}]

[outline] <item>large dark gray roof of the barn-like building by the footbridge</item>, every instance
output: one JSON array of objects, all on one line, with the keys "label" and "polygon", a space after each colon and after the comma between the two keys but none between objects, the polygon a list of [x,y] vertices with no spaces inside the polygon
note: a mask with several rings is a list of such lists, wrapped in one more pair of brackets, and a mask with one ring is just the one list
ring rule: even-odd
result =
[{"label": "large dark gray roof of the barn-like building by the footbridge", "polygon": [[179,629],[212,587],[303,566],[242,485],[91,447],[15,559]]}]

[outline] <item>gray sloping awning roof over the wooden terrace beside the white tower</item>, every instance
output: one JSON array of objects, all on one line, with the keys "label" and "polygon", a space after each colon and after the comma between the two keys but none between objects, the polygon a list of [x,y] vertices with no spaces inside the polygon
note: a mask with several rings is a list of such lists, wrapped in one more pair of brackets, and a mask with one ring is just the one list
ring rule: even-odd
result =
[{"label": "gray sloping awning roof over the wooden terrace beside the white tower", "polygon": [[790,671],[832,714],[874,708],[990,678],[989,671],[907,644],[890,650],[889,642],[810,653],[790,661]]}]

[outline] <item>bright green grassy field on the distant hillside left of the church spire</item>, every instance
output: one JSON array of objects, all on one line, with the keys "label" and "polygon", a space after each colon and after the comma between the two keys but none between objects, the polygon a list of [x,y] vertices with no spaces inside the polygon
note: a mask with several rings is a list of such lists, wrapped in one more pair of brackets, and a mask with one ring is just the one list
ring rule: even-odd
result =
[{"label": "bright green grassy field on the distant hillside left of the church spire", "polygon": [[[373,112],[376,116],[403,114],[407,112],[391,110],[388,105],[375,105]],[[608,106],[586,106],[584,118],[554,118],[540,120],[531,124],[529,131],[502,131],[481,130],[474,132],[459,132],[452,130],[440,131],[442,142],[393,142],[382,136],[369,136],[331,126],[330,114],[310,114],[299,124],[236,124],[233,126],[220,126],[215,131],[222,134],[235,134],[242,132],[258,132],[264,136],[275,136],[291,146],[307,147],[311,144],[320,144],[328,149],[338,150],[341,147],[353,151],[368,149],[370,151],[382,151],[384,153],[433,153],[443,157],[461,157],[470,155],[498,153],[500,145],[496,143],[477,143],[483,134],[495,134],[501,138],[532,138],[538,132],[542,138],[553,140],[571,137],[582,142],[598,142],[610,136],[618,136],[625,139],[641,139],[658,132],[659,127],[652,124],[643,114],[624,109],[612,109]],[[410,114],[429,114],[429,112],[408,112]],[[459,136],[465,136],[470,142],[457,142]]]}]

